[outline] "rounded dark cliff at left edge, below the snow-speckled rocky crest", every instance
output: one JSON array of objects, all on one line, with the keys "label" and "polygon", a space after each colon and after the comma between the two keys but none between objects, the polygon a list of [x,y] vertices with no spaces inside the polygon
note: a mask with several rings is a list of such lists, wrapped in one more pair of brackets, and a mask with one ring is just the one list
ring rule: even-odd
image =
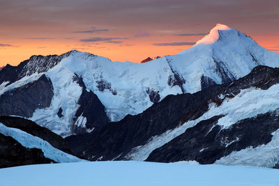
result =
[{"label": "rounded dark cliff at left edge, below the snow-speckled rocky crest", "polygon": [[52,82],[42,75],[34,82],[0,95],[0,115],[29,118],[36,109],[50,107],[53,95]]}]

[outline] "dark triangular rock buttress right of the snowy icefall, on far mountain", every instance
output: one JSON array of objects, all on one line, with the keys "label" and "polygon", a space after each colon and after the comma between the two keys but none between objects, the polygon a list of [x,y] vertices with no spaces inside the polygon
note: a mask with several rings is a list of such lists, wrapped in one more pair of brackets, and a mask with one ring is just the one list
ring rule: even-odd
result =
[{"label": "dark triangular rock buttress right of the snowy icefall, on far mountain", "polygon": [[[86,130],[93,130],[93,128],[99,131],[109,122],[104,105],[100,102],[96,94],[86,89],[82,77],[75,75],[73,80],[82,87],[82,95],[77,102],[80,107],[77,109],[73,118],[73,132],[75,134],[83,134],[86,133]],[[86,128],[75,125],[75,122],[80,116],[86,118]]]}]

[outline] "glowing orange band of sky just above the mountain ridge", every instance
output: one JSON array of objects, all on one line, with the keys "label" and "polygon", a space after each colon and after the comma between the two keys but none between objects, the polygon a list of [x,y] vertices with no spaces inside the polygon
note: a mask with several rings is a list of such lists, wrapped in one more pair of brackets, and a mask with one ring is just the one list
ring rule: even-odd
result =
[{"label": "glowing orange band of sky just above the mountain ridge", "polygon": [[[166,37],[162,37],[166,40]],[[199,37],[189,37],[188,40],[198,40]],[[279,49],[276,47],[276,43],[279,43],[278,36],[252,36],[259,45],[266,47],[267,49],[274,50]],[[171,42],[180,42],[181,39],[175,37],[169,37]],[[154,46],[153,42],[160,42],[161,40],[134,40],[121,45],[111,43],[101,44],[86,44],[81,45],[79,42],[73,42],[69,40],[35,40],[29,42],[27,40],[9,42],[10,45],[15,47],[2,47],[0,49],[0,66],[6,65],[17,65],[18,63],[29,59],[32,55],[49,55],[49,54],[62,54],[68,52],[71,49],[77,49],[82,52],[90,52],[99,56],[105,56],[112,61],[131,61],[140,62],[148,56],[165,56],[170,54],[177,54],[183,49],[188,49],[190,45],[183,46]],[[126,46],[128,45],[128,46]]]}]

